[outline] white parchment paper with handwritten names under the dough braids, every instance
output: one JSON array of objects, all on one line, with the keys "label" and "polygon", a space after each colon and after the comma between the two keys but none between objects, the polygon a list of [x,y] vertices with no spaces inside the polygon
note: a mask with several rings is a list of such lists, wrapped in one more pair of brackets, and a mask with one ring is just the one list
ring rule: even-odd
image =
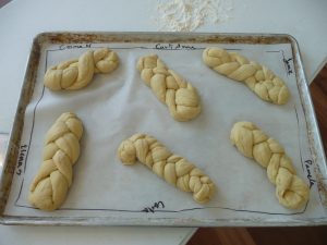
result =
[{"label": "white parchment paper with handwritten names under the dough braids", "polygon": [[[290,45],[219,45],[265,64],[283,78],[291,90],[291,99],[284,106],[265,102],[243,84],[207,68],[202,62],[202,51],[213,44],[89,46],[43,47],[37,84],[25,115],[21,144],[25,146],[24,157],[12,183],[5,215],[152,218],[158,223],[165,219],[231,220],[242,225],[249,221],[289,222],[326,217],[315,182],[307,205],[288,210],[275,197],[266,170],[243,157],[229,139],[233,123],[252,121],[284,147],[301,177],[308,183],[311,171],[311,179],[315,180],[312,167],[305,167],[305,161],[313,159]],[[119,54],[120,66],[113,73],[97,74],[93,83],[76,91],[53,93],[44,87],[47,68],[100,47],[114,49]],[[149,53],[157,53],[197,88],[203,110],[196,119],[174,121],[142,82],[135,64],[141,56]],[[44,212],[28,204],[28,187],[41,162],[45,134],[66,111],[75,112],[84,123],[81,157],[62,207]],[[169,185],[145,166],[122,166],[117,157],[118,146],[135,133],[153,135],[207,173],[218,187],[214,199],[198,205],[191,194]]]}]

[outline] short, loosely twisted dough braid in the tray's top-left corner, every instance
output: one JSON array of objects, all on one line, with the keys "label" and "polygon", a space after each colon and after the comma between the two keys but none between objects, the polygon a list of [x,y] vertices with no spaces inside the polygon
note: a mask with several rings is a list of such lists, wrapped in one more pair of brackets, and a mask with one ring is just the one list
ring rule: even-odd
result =
[{"label": "short, loosely twisted dough braid in the tray's top-left corner", "polygon": [[51,90],[80,89],[90,83],[95,73],[110,73],[117,69],[119,58],[108,48],[88,50],[78,60],[69,60],[48,69],[45,86]]}]

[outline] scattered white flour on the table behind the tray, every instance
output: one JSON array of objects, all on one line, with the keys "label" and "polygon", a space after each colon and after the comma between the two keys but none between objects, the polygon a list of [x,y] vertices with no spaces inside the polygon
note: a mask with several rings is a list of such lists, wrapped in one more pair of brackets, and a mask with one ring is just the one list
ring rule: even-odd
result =
[{"label": "scattered white flour on the table behind the tray", "polygon": [[192,32],[230,19],[231,0],[159,0],[155,16],[160,30]]}]

